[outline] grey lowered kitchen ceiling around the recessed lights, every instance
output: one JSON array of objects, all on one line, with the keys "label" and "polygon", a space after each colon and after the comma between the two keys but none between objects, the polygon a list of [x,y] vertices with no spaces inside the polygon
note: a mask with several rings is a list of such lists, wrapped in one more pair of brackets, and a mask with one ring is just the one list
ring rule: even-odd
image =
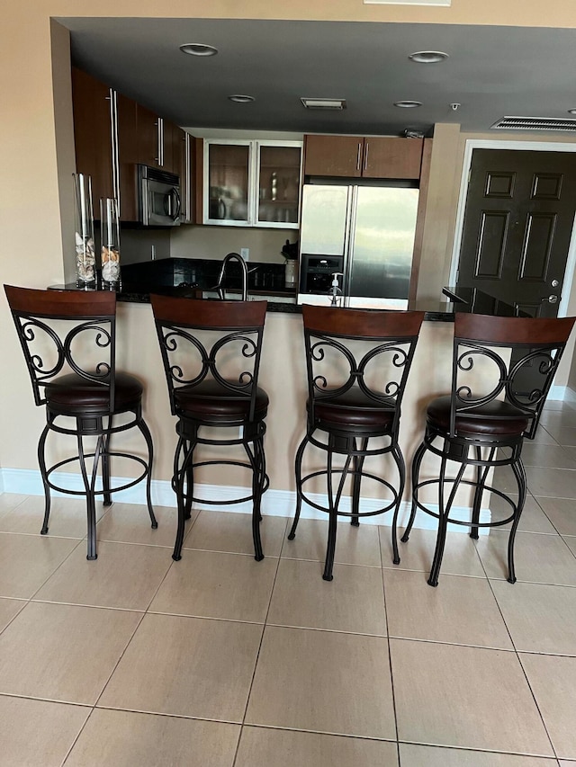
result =
[{"label": "grey lowered kitchen ceiling around the recessed lights", "polygon": [[[487,131],[505,115],[570,118],[576,30],[377,22],[60,18],[72,58],[183,127],[432,135],[437,122]],[[184,55],[208,43],[219,55]],[[449,58],[418,65],[417,50]],[[237,104],[230,94],[249,94]],[[301,96],[344,98],[344,111]],[[395,101],[422,102],[399,109]],[[461,106],[454,111],[452,103]],[[494,131],[502,137],[504,131]],[[541,134],[543,137],[546,133]],[[548,134],[549,135],[549,134]],[[562,134],[559,134],[562,135]],[[566,135],[566,134],[564,134]]]}]

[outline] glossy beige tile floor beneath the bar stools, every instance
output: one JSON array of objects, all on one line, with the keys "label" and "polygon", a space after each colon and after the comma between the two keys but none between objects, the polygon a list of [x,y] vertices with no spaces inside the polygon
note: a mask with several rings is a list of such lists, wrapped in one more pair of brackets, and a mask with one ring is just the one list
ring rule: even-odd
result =
[{"label": "glossy beige tile floor beneath the bar stools", "polygon": [[[576,409],[547,406],[506,581],[507,533],[201,512],[173,562],[174,509],[0,495],[0,765],[576,767]],[[563,444],[563,441],[566,444]],[[508,486],[506,475],[497,477]]]}]

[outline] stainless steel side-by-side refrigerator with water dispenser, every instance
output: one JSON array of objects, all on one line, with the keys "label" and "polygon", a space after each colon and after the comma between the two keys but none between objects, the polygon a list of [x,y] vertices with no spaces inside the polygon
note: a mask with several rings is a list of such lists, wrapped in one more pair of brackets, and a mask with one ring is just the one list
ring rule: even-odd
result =
[{"label": "stainless steel side-by-side refrigerator with water dispenser", "polygon": [[304,184],[298,302],[329,306],[337,279],[338,306],[407,308],[418,199],[407,186]]}]

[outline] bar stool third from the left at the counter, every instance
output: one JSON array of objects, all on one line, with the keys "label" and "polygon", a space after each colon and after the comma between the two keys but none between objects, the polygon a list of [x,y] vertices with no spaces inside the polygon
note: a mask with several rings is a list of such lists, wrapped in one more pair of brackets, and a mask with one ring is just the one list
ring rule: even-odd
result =
[{"label": "bar stool third from the left at the counter", "polygon": [[[395,522],[406,477],[398,442],[401,401],[424,313],[304,306],[302,318],[308,421],[306,435],[296,452],[296,513],[288,539],[293,540],[296,535],[302,500],[328,513],[328,546],[322,577],[331,581],[338,516],[351,517],[351,523],[358,525],[362,516],[393,509],[392,550],[394,561],[400,561]],[[374,446],[371,440],[379,441]],[[302,459],[309,445],[325,452],[326,464],[325,468],[302,477]],[[386,453],[392,455],[398,469],[398,486],[365,470],[365,459]],[[343,457],[341,468],[334,467],[337,455]],[[314,477],[326,479],[326,503],[313,500],[308,488],[304,492],[304,486]],[[336,492],[334,477],[339,477]],[[347,479],[352,491],[350,512],[341,507]],[[385,501],[376,511],[361,512],[364,479],[385,488],[392,500]]]}]

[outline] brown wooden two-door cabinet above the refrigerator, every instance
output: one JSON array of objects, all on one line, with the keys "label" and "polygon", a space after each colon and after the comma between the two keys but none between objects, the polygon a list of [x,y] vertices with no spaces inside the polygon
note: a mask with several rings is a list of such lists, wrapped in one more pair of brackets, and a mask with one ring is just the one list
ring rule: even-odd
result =
[{"label": "brown wooden two-door cabinet above the refrigerator", "polygon": [[305,141],[304,174],[419,179],[422,138],[317,136]]}]

